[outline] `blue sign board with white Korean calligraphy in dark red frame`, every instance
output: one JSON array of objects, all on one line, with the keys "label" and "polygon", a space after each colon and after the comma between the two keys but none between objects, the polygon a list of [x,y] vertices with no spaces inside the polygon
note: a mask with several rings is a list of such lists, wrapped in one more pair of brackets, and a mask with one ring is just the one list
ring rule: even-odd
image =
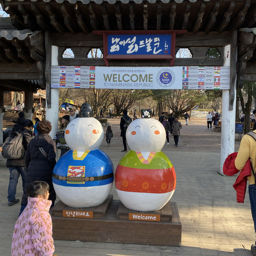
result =
[{"label": "blue sign board with white Korean calligraphy in dark red frame", "polygon": [[110,59],[170,59],[174,63],[176,34],[186,30],[95,30],[103,34],[103,56]]}]

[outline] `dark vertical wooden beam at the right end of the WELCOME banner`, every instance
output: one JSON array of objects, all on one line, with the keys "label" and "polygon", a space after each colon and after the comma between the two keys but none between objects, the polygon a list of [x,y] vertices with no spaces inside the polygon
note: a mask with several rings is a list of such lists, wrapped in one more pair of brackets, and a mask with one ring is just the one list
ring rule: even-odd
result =
[{"label": "dark vertical wooden beam at the right end of the WELCOME banner", "polygon": [[237,48],[237,30],[231,32],[230,40],[230,89],[229,89],[229,110],[233,110],[236,88],[236,48]]}]

